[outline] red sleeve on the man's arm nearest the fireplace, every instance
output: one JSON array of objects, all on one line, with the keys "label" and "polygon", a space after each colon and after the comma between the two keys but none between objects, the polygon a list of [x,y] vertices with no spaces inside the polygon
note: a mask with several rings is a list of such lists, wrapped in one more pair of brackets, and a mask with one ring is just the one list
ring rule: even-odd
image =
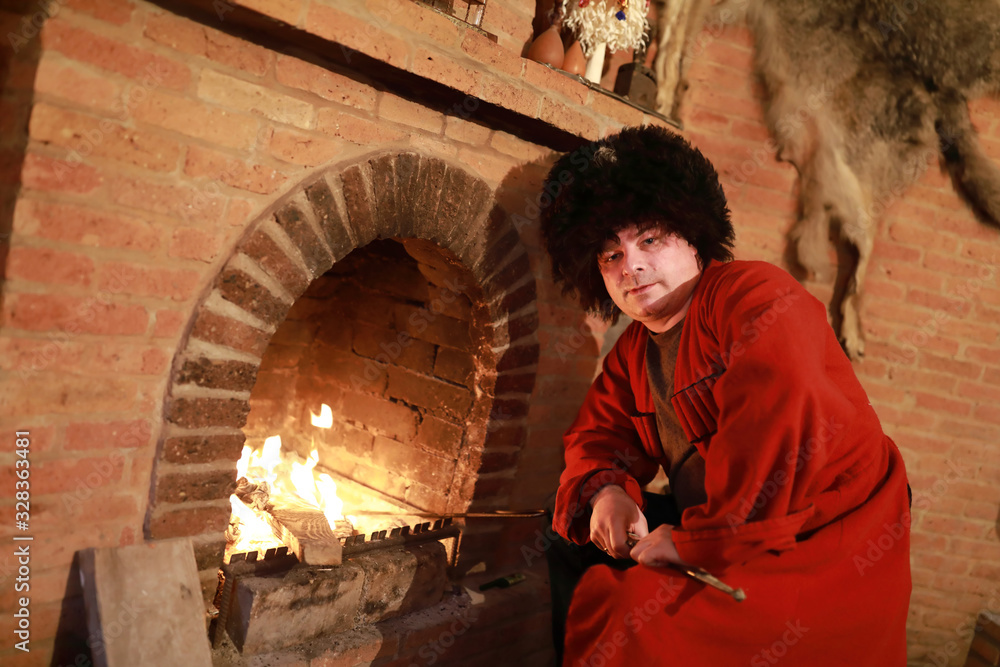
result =
[{"label": "red sleeve on the man's arm nearest the fireplace", "polygon": [[553,527],[577,544],[590,540],[590,499],[601,487],[618,484],[641,508],[642,486],[659,467],[643,449],[632,421],[635,395],[627,355],[637,344],[634,328],[618,339],[563,437],[566,469],[559,479]]}]

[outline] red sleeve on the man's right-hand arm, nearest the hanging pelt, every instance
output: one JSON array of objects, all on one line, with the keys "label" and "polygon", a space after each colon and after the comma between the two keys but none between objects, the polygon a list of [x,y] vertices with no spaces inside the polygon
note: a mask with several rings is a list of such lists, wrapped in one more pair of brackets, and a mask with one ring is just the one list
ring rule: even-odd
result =
[{"label": "red sleeve on the man's right-hand arm, nearest the hanging pelt", "polygon": [[733,272],[700,310],[725,370],[711,390],[718,416],[704,452],[708,500],[684,512],[673,540],[684,561],[721,572],[795,548],[860,390],[845,376],[853,380],[853,371],[823,305],[777,267]]}]

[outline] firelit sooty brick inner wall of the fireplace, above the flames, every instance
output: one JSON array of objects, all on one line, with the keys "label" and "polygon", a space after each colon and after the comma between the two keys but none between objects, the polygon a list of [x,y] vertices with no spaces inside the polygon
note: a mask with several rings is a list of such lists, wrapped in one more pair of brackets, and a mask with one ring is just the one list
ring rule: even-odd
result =
[{"label": "firelit sooty brick inner wall of the fireplace, above the flames", "polygon": [[[480,455],[463,436],[473,387],[489,390],[495,377],[477,378],[470,330],[482,297],[469,271],[434,244],[404,243],[423,261],[376,241],[299,297],[262,357],[243,430],[253,447],[281,435],[350,479],[444,512],[472,500],[456,475],[475,472]],[[323,404],[329,430],[311,425]],[[459,468],[462,458],[471,466]]]}]

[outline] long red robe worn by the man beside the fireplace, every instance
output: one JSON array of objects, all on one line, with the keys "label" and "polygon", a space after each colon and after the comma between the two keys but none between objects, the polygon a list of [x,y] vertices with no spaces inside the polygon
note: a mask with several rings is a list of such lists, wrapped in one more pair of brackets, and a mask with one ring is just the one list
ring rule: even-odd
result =
[{"label": "long red robe worn by the man beside the fireplace", "polygon": [[[579,544],[598,488],[617,483],[642,506],[640,487],[665,462],[647,339],[641,324],[625,330],[565,436],[554,527]],[[747,600],[671,569],[592,567],[564,665],[905,665],[906,472],[823,305],[777,267],[712,262],[674,387],[708,498],[684,511],[674,543]]]}]

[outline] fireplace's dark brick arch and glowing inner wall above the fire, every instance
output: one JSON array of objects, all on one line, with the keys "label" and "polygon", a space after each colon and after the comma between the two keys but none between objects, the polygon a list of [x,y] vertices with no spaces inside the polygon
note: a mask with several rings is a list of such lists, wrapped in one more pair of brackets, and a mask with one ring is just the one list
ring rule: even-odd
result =
[{"label": "fireplace's dark brick arch and glowing inner wall above the fire", "polygon": [[[240,451],[275,433],[406,507],[508,507],[534,297],[518,234],[460,166],[392,152],[313,175],[248,227],[195,309],[147,537],[190,536],[203,575],[218,568]],[[304,428],[324,403],[334,426]],[[498,535],[465,531],[453,574],[488,569]]]}]

